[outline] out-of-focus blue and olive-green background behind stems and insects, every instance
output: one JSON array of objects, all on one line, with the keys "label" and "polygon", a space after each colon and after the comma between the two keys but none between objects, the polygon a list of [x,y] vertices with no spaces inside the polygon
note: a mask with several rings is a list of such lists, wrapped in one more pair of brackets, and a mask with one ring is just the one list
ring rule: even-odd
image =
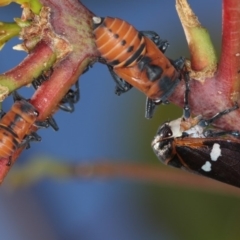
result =
[{"label": "out-of-focus blue and olive-green background behind stems and insects", "polygon": [[[170,47],[167,56],[189,56],[174,0],[83,0],[99,16],[127,20],[139,30],[154,30]],[[211,32],[219,52],[221,1],[190,1],[200,21]],[[16,4],[0,8],[0,20],[20,16]],[[12,50],[11,40],[0,52],[0,72],[26,55]],[[56,162],[151,163],[159,166],[150,147],[165,120],[181,115],[175,106],[161,106],[152,120],[144,118],[145,96],[133,89],[121,97],[106,68],[95,64],[80,79],[81,100],[76,111],[59,111],[60,127],[39,131],[41,143],[31,144],[16,167],[36,156]],[[21,89],[30,97],[32,88]],[[9,109],[12,100],[4,101]],[[162,166],[164,168],[164,166]],[[12,189],[8,178],[0,194],[0,236],[4,240],[192,240],[239,239],[240,202],[233,196],[186,190],[129,179],[43,179]]]}]

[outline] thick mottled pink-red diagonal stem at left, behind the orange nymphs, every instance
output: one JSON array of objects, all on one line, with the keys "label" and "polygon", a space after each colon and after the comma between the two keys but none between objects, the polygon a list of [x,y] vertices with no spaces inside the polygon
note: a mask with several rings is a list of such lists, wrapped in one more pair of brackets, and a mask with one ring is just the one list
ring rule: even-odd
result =
[{"label": "thick mottled pink-red diagonal stem at left, behind the orange nymphs", "polygon": [[[96,58],[98,52],[92,33],[93,14],[85,6],[78,0],[41,0],[41,3],[51,9],[49,22],[55,33],[67,40],[71,49],[67,56],[58,59],[52,66],[53,74],[48,81],[36,90],[30,99],[30,102],[39,112],[38,120],[43,121],[56,111],[58,103],[78,80],[86,66]],[[45,51],[50,49],[52,53],[51,47],[53,45],[51,41],[47,43],[49,46],[43,47],[41,53],[36,54],[33,51],[35,54],[32,57],[39,59],[38,64],[42,64],[45,56],[49,55]],[[44,44],[44,41],[39,43],[39,45]],[[53,49],[54,52],[61,52],[61,50],[61,47]],[[29,68],[29,64],[31,62],[25,64],[25,68],[22,67],[21,74]],[[29,71],[31,70],[29,68]],[[15,74],[14,71],[13,74]],[[32,130],[36,131],[37,129],[33,126]],[[22,150],[23,148],[20,148],[13,154],[12,164]],[[8,159],[0,159],[0,183],[10,170],[7,163]]]}]

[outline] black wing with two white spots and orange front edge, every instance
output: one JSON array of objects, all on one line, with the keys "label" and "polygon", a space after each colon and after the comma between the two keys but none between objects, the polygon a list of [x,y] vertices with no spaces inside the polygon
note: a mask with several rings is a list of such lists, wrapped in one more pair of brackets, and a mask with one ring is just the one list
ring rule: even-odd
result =
[{"label": "black wing with two white spots and orange front edge", "polygon": [[184,138],[175,139],[174,144],[176,156],[169,165],[181,165],[190,172],[240,187],[240,141],[237,139]]}]

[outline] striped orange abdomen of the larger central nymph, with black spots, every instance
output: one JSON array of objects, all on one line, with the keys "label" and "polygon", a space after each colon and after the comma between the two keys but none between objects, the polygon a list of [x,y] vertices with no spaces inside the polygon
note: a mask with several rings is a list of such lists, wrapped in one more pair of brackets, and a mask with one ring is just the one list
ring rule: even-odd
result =
[{"label": "striped orange abdomen of the larger central nymph, with black spots", "polygon": [[145,54],[144,37],[131,24],[119,18],[94,17],[96,45],[107,64],[130,67]]}]

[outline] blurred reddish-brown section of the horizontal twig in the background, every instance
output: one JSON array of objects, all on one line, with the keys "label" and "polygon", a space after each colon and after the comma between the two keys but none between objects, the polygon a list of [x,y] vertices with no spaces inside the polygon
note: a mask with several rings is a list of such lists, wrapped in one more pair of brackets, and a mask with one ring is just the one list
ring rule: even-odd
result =
[{"label": "blurred reddish-brown section of the horizontal twig in the background", "polygon": [[[201,190],[219,194],[231,194],[240,197],[238,188],[220,183],[218,181],[193,175],[179,170],[152,166],[150,164],[111,163],[104,160],[101,163],[78,164],[73,167],[70,177],[78,178],[122,178],[132,179],[155,184],[170,185],[173,187],[184,187],[191,190]],[[61,176],[60,176],[61,177]]]}]

